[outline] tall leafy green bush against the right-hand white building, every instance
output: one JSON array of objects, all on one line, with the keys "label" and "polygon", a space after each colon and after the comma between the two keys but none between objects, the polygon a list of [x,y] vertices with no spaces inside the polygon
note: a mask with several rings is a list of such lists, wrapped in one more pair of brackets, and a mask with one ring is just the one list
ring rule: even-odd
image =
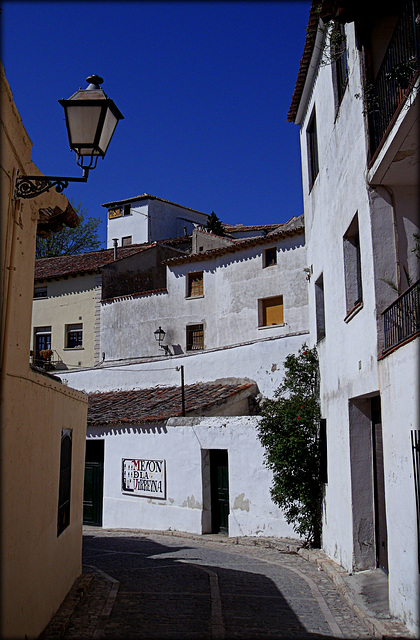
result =
[{"label": "tall leafy green bush against the right-hand white building", "polygon": [[273,471],[271,497],[311,546],[320,546],[323,487],[316,349],[287,356],[283,383],[261,409],[258,437]]}]

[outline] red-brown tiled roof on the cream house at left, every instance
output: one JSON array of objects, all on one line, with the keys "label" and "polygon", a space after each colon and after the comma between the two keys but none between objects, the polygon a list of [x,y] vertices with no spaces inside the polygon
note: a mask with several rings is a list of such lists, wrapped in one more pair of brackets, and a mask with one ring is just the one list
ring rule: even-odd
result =
[{"label": "red-brown tiled roof on the cream house at left", "polygon": [[[140,251],[145,251],[155,243],[131,244],[118,247],[117,260],[127,258]],[[69,275],[92,273],[110,262],[114,262],[114,249],[101,249],[89,253],[79,253],[73,256],[57,256],[55,258],[40,258],[35,261],[35,280],[47,278],[63,278]]]}]

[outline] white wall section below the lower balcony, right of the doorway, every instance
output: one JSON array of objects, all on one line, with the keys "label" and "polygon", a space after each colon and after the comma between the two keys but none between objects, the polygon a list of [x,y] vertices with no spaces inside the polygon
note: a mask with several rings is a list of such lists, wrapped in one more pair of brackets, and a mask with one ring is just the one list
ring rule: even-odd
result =
[{"label": "white wall section below the lower balcony, right of the doorway", "polygon": [[420,574],[416,559],[416,499],[410,431],[419,429],[420,341],[379,363],[389,549],[389,605],[420,635]]}]

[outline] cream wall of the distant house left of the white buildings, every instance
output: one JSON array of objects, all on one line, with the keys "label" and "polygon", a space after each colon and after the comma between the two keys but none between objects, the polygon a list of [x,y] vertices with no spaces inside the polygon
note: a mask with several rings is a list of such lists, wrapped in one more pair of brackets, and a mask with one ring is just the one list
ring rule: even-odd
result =
[{"label": "cream wall of the distant house left of the white buildings", "polygon": [[[99,359],[95,344],[95,320],[100,313],[101,279],[99,274],[51,281],[37,281],[47,287],[47,298],[37,298],[32,307],[31,349],[34,349],[36,327],[51,326],[52,359],[59,358],[63,368],[92,367]],[[83,324],[83,346],[67,349],[66,325]],[[62,368],[60,366],[60,368]]]}]

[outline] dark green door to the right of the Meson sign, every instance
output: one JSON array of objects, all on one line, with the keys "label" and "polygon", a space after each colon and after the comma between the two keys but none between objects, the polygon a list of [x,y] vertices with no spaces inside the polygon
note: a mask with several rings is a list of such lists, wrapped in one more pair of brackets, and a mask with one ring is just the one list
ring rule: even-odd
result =
[{"label": "dark green door to the right of the Meson sign", "polygon": [[224,449],[210,451],[211,520],[213,533],[228,532],[229,473],[228,452]]}]

